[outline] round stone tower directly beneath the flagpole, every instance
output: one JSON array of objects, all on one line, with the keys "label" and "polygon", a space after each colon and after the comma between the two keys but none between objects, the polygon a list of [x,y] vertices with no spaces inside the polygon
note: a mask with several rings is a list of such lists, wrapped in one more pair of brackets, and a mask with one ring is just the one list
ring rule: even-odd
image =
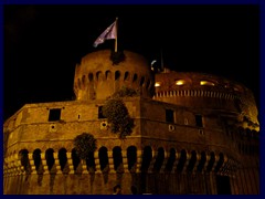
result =
[{"label": "round stone tower directly beneath the flagpole", "polygon": [[74,93],[77,101],[106,100],[123,86],[152,97],[153,75],[147,60],[124,51],[125,59],[114,64],[110,50],[87,54],[75,67]]}]

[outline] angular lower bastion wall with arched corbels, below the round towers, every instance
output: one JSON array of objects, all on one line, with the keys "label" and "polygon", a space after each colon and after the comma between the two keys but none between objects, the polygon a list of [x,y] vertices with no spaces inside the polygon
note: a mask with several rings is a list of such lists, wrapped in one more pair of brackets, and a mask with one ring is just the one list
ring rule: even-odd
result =
[{"label": "angular lower bastion wall with arched corbels, below the round towers", "polygon": [[[108,128],[100,128],[106,119],[98,118],[98,106],[104,101],[22,107],[4,124],[4,134],[9,135],[4,193],[100,195],[112,193],[113,187],[121,184],[124,193],[130,193],[134,185],[141,193],[215,195],[220,192],[218,178],[229,180],[233,195],[259,192],[255,132],[239,130],[231,124],[226,130],[221,119],[225,114],[211,109],[141,97],[127,98],[125,103],[136,127],[124,140]],[[60,121],[47,121],[52,108],[61,108]],[[172,122],[167,122],[166,109],[173,111]],[[195,114],[202,115],[203,126],[197,126]],[[230,118],[231,123],[234,119]],[[97,139],[93,168],[73,158],[73,138],[84,132]],[[54,163],[49,166],[46,151],[51,149]],[[63,166],[62,149],[66,157]],[[102,149],[107,157],[100,157]],[[119,161],[114,154],[117,149]],[[40,150],[39,167],[36,150]],[[21,159],[21,151],[26,155],[26,164]],[[103,167],[104,159],[107,164]]]}]

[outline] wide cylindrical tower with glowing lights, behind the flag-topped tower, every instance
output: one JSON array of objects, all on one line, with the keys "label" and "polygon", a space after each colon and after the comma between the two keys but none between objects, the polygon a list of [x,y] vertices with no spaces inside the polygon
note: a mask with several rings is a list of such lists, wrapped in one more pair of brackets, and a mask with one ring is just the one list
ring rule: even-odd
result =
[{"label": "wide cylindrical tower with glowing lights, behind the flag-topped tower", "polygon": [[257,107],[251,90],[237,82],[195,72],[156,74],[153,100],[192,108],[222,109],[239,115],[239,125],[259,132]]}]

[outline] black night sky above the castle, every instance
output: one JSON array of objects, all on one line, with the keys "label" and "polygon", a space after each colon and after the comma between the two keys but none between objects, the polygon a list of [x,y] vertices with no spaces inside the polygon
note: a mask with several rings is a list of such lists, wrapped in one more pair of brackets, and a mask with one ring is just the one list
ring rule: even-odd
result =
[{"label": "black night sky above the castle", "polygon": [[258,6],[4,6],[4,119],[26,103],[72,100],[74,69],[118,22],[118,48],[176,71],[243,83],[259,100]]}]

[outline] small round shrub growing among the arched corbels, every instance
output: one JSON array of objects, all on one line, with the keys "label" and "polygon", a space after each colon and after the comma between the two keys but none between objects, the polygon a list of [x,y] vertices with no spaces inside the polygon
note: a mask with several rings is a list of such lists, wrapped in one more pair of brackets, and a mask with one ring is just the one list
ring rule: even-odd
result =
[{"label": "small round shrub growing among the arched corbels", "polygon": [[96,139],[93,135],[83,133],[74,138],[74,147],[81,159],[88,159],[89,153],[96,150]]}]

